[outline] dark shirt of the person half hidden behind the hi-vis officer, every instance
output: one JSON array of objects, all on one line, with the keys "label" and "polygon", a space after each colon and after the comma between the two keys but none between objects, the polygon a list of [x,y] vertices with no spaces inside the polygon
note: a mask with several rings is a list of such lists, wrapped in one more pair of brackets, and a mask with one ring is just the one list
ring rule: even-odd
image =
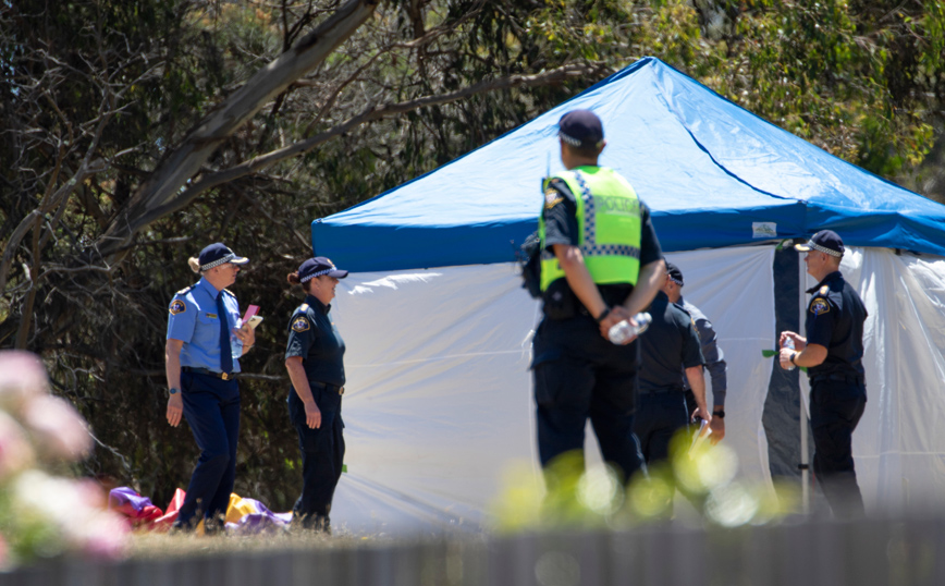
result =
[{"label": "dark shirt of the person half hidden behind the hi-vis officer", "polygon": [[692,318],[660,291],[649,308],[653,321],[640,334],[640,392],[683,391],[683,368],[702,366],[702,344]]}]

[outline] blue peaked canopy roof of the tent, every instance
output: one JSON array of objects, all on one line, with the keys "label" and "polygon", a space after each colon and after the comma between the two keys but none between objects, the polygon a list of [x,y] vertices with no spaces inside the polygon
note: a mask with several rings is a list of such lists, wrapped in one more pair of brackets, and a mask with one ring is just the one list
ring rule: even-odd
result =
[{"label": "blue peaked canopy roof of the tent", "polygon": [[563,169],[557,121],[604,123],[601,164],[650,207],[666,252],[805,237],[945,256],[945,206],[765,122],[655,58],[637,61],[491,143],[311,225],[353,271],[506,263],[537,228],[541,179]]}]

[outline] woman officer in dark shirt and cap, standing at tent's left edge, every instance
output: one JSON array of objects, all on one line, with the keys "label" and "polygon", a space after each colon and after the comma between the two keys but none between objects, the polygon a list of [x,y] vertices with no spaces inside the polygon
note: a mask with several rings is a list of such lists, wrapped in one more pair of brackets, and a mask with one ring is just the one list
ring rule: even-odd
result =
[{"label": "woman officer in dark shirt and cap, standing at tent's left edge", "polygon": [[293,522],[305,529],[331,533],[329,512],[341,478],[344,437],[341,395],[344,392],[344,340],[331,318],[338,280],[347,277],[323,256],[309,258],[290,273],[300,283],[305,303],[292,314],[285,368],[292,380],[289,416],[302,450],[302,496]]}]

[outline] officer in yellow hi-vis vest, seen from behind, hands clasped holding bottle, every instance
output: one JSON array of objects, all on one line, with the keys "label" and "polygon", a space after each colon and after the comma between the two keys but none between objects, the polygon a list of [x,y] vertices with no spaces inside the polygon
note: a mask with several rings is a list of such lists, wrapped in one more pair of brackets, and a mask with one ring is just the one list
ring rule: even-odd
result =
[{"label": "officer in yellow hi-vis vest, seen from behind, hands clasped holding bottle", "polygon": [[[547,473],[560,469],[555,462],[581,472],[590,417],[604,461],[629,480],[641,465],[633,435],[640,352],[635,338],[614,344],[608,332],[646,309],[665,264],[649,209],[624,178],[598,167],[600,119],[568,112],[559,138],[567,171],[544,180],[539,218],[544,317],[531,365],[539,457]],[[579,457],[559,459],[567,452]]]}]

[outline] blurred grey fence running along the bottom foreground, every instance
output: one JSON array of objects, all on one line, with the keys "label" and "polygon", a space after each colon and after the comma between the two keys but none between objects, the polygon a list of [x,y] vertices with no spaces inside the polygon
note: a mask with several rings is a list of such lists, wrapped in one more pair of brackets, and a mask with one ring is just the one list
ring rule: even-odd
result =
[{"label": "blurred grey fence running along the bottom foreground", "polygon": [[942,586],[945,517],[364,541],[0,573],[0,586]]}]

